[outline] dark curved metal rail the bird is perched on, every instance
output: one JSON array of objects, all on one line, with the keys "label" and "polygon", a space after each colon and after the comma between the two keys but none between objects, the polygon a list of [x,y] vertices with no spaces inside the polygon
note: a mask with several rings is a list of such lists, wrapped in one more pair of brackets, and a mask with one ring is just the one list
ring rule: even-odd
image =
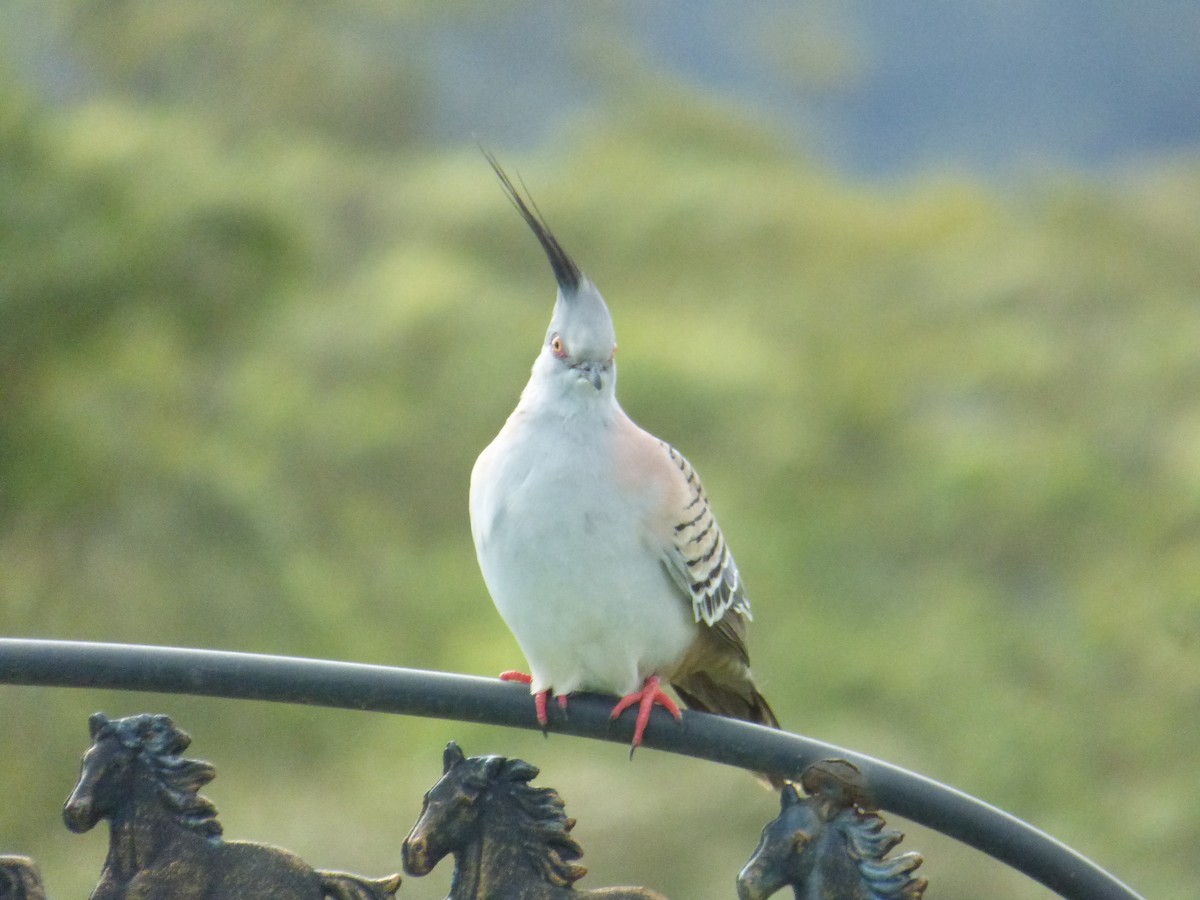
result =
[{"label": "dark curved metal rail the bird is perched on", "polygon": [[[522,685],[491,678],[174,647],[0,638],[0,684],[107,688],[400,713],[535,728]],[[556,704],[551,703],[551,710]],[[571,697],[552,730],[628,743],[632,716],[611,722],[611,700]],[[851,750],[757,725],[654,710],[646,746],[751,772],[798,776],[817,760],[854,763],[884,810],[1007,863],[1068,900],[1140,900],[1114,876],[1037,828],[952,787]]]}]

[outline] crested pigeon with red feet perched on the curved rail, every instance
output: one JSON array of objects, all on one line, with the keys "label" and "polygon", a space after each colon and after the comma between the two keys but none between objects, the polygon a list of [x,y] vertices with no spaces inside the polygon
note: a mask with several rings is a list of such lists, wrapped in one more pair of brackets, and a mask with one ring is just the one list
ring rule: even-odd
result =
[{"label": "crested pigeon with red feet perched on the curved rail", "polygon": [[[617,337],[595,284],[496,174],[558,281],[529,383],[470,475],[470,528],[484,581],[546,698],[620,695],[637,706],[632,746],[655,703],[679,719],[667,682],[692,709],[779,727],[755,688],[746,599],[696,470],[617,403]],[[534,206],[536,210],[536,206]]]}]

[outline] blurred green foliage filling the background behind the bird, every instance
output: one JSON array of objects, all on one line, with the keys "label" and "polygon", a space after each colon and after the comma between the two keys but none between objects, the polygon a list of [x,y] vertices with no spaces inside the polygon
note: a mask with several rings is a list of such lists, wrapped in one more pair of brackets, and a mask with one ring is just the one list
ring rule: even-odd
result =
[{"label": "blurred green foliage filling the background behind the bird", "polygon": [[[354,40],[382,6],[216,29],[66,4],[102,98],[0,79],[0,632],[522,662],[466,492],[553,286],[475,148],[419,139],[419,77]],[[625,408],[704,475],[786,726],[1186,894],[1200,163],[866,187],[666,82],[504,162],[610,301]],[[743,773],[616,745],[0,688],[0,851],[56,896],[104,852],[58,817],[98,708],[191,730],[230,836],[371,875],[449,738],[542,768],[593,887],[731,896],[773,815]],[[937,896],[1048,895],[920,829],[905,846]],[[443,895],[448,868],[402,895]]]}]

